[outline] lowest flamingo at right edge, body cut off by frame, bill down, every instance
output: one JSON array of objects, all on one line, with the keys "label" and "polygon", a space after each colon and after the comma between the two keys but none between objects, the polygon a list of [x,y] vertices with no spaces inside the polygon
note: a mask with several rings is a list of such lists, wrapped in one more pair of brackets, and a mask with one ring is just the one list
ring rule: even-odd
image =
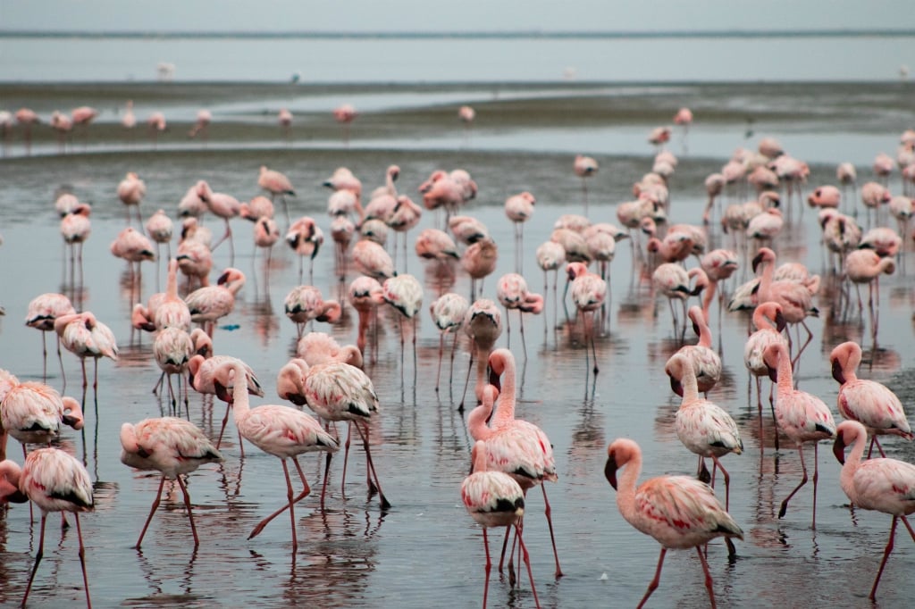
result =
[{"label": "lowest flamingo at right edge, body cut off by frame, bill down", "polygon": [[[836,429],[833,452],[835,458],[842,464],[842,474],[839,484],[845,491],[845,496],[852,505],[864,509],[876,509],[878,512],[890,514],[893,517],[889,526],[889,540],[883,552],[883,560],[877,569],[877,577],[870,589],[868,598],[873,602],[877,599],[877,584],[880,575],[887,566],[889,553],[893,551],[893,539],[896,537],[896,524],[899,519],[909,529],[912,540],[915,540],[915,530],[912,530],[906,518],[915,512],[915,501],[912,500],[912,489],[915,488],[915,465],[897,459],[867,459],[862,461],[864,447],[867,443],[867,429],[856,421],[843,421]],[[845,458],[845,446],[853,444],[852,452]]]}]

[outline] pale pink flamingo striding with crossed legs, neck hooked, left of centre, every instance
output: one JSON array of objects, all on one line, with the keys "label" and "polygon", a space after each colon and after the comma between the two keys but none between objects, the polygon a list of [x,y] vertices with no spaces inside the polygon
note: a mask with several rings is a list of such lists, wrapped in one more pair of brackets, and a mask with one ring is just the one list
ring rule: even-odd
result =
[{"label": "pale pink flamingo striding with crossed legs, neck hooked, left of centre", "polygon": [[[328,454],[329,466],[330,454],[339,449],[339,442],[321,428],[321,423],[317,419],[306,412],[279,404],[266,404],[252,409],[248,402],[249,391],[246,374],[238,364],[224,365],[218,371],[217,377],[217,383],[225,385],[227,389],[232,389],[232,411],[234,412],[235,425],[238,427],[242,437],[260,448],[264,453],[278,457],[283,463],[288,503],[283,508],[277,509],[273,514],[261,520],[251,531],[248,539],[256,537],[268,522],[282,514],[286,508],[289,508],[289,520],[292,524],[292,552],[295,558],[298,550],[298,539],[296,536],[294,506],[311,492],[305,472],[302,471],[302,465],[298,463],[298,455],[324,451]],[[286,459],[292,459],[293,464],[296,465],[299,479],[302,481],[302,492],[296,497],[293,497],[292,480],[289,477],[289,466],[286,465]],[[327,482],[327,475],[327,470],[325,470],[325,483]]]}]

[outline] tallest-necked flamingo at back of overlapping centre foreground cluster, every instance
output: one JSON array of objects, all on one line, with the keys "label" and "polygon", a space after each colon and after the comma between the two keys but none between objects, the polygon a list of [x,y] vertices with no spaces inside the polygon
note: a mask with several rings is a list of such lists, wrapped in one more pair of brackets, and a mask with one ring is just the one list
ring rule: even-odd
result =
[{"label": "tallest-necked flamingo at back of overlapping centre foreground cluster", "polygon": [[[550,508],[550,501],[546,497],[546,487],[543,484],[544,480],[555,482],[558,479],[553,455],[553,443],[550,442],[546,433],[533,423],[523,421],[522,419],[515,419],[516,369],[514,356],[511,355],[511,351],[506,348],[496,349],[490,355],[489,364],[493,379],[498,379],[497,382],[499,384],[496,386],[496,389],[500,391],[499,400],[496,401],[494,405],[495,414],[491,417],[490,429],[486,430],[484,425],[476,426],[474,430],[471,431],[471,435],[476,431],[477,433],[480,433],[480,436],[474,435],[475,440],[491,440],[498,434],[511,432],[512,434],[520,434],[527,438],[528,450],[522,450],[521,454],[511,454],[510,452],[509,454],[502,453],[491,455],[490,463],[507,464],[508,462],[511,462],[514,457],[520,457],[522,460],[527,461],[529,467],[517,468],[521,472],[520,474],[514,474],[513,470],[516,468],[511,465],[505,465],[502,469],[503,471],[512,470],[507,471],[507,473],[512,475],[518,484],[522,486],[525,497],[527,490],[533,486],[539,485],[543,491],[544,513],[547,526],[550,529],[550,541],[553,543],[553,557],[556,565],[555,576],[557,578],[562,577],[563,571],[559,566],[559,554],[556,551],[556,539],[553,532],[553,509]],[[479,412],[478,416],[481,414],[482,411]],[[482,417],[480,422],[485,422],[488,418],[490,418],[489,414]],[[468,427],[469,423],[470,419],[468,416]],[[512,449],[506,446],[505,450],[511,451]],[[518,462],[515,461],[515,463],[517,464]],[[531,475],[532,472],[533,475]]]}]

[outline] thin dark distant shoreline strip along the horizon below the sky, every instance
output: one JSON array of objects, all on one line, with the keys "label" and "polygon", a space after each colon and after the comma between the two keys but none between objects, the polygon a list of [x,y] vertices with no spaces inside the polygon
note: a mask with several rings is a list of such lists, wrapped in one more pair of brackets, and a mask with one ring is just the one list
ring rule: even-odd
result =
[{"label": "thin dark distant shoreline strip along the horizon below the sky", "polygon": [[383,32],[383,31],[157,31],[157,30],[4,30],[0,38],[84,38],[84,39],[383,39],[383,40],[425,40],[425,39],[554,39],[554,40],[599,40],[599,39],[659,39],[659,38],[860,38],[860,37],[915,37],[915,29],[785,29],[785,30],[644,30],[644,31],[431,31],[431,32]]}]

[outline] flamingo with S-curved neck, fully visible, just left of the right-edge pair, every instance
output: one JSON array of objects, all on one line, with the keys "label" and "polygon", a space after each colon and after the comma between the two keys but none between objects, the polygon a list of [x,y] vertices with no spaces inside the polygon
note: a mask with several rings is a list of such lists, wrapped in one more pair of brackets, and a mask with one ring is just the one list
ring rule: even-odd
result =
[{"label": "flamingo with S-curved neck, fully visible, just left of the right-edge pair", "polygon": [[766,347],[763,353],[766,366],[769,367],[769,376],[778,383],[775,398],[775,420],[783,431],[798,448],[801,455],[801,468],[803,476],[801,484],[785,497],[779,508],[779,518],[784,517],[788,509],[788,501],[802,486],[807,484],[807,465],[803,462],[803,444],[813,443],[813,529],[816,529],[816,482],[819,478],[817,471],[818,443],[835,436],[835,422],[829,407],[812,393],[794,389],[791,379],[791,356],[787,347],[781,343],[773,343]]}]

